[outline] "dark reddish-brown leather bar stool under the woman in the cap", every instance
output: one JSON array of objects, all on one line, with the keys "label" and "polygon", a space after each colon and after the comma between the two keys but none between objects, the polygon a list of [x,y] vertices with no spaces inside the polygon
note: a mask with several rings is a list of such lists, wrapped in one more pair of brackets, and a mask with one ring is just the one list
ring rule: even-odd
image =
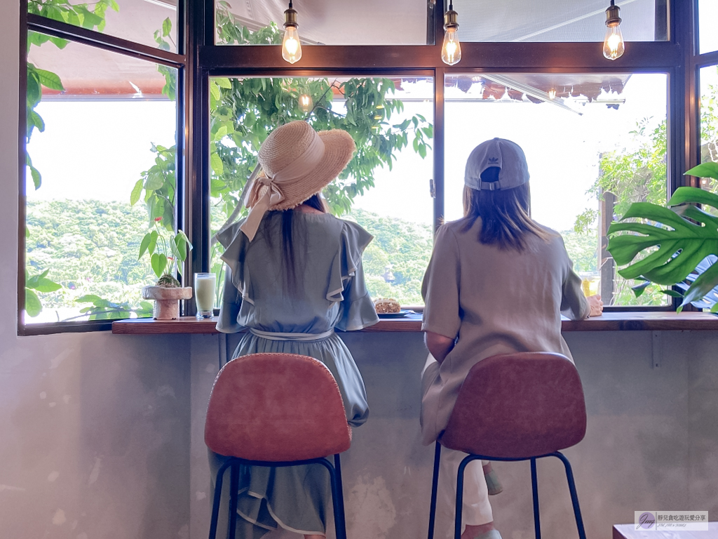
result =
[{"label": "dark reddish-brown leather bar stool under the woman in the cap", "polygon": [[568,459],[559,452],[586,435],[581,379],[566,356],[523,352],[493,356],[475,364],[459,392],[454,411],[434,453],[429,539],[434,537],[441,446],[469,453],[459,465],[454,538],[461,538],[464,471],[477,459],[531,461],[533,525],[541,539],[536,459],[555,456],[566,468],[580,539],[586,539]]}]

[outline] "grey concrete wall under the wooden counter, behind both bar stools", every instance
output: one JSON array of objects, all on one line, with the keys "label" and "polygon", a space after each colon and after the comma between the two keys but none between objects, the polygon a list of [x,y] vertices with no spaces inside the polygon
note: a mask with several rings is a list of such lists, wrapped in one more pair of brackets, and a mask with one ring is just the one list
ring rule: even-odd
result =
[{"label": "grey concrete wall under the wooden counter, behind both bar stools", "polygon": [[[635,510],[708,510],[718,517],[718,333],[658,333],[653,367],[648,331],[567,333],[586,394],[587,436],[565,451],[574,467],[589,538],[610,538]],[[363,374],[370,416],[342,456],[348,535],[426,535],[433,447],[419,442],[419,333],[347,333]],[[207,529],[209,492],[202,425],[218,366],[218,337],[192,337],[192,538]],[[230,336],[230,349],[236,336]],[[528,463],[498,463],[505,491],[492,497],[505,539],[533,537]],[[559,461],[540,461],[546,537],[577,537]],[[437,538],[449,537],[440,515]],[[296,538],[290,533],[268,536]],[[330,537],[332,533],[330,530]]]}]

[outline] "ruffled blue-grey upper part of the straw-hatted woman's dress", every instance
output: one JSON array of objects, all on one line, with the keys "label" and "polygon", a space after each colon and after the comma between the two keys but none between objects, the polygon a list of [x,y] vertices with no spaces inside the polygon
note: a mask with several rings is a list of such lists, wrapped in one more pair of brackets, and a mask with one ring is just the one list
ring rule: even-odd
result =
[{"label": "ruffled blue-grey upper part of the straw-hatted woman's dress", "polygon": [[279,226],[269,231],[269,241],[262,221],[251,242],[239,229],[242,222],[218,236],[227,263],[219,331],[325,333],[378,322],[361,265],[373,236],[361,226],[330,213],[294,212],[298,272],[292,287],[282,262],[281,220],[275,218]]}]

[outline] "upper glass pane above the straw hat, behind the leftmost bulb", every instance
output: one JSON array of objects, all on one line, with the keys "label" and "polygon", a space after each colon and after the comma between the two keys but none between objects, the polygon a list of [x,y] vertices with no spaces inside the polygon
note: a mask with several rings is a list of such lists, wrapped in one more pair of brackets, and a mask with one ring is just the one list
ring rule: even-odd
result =
[{"label": "upper glass pane above the straw hat, behind the leftmost bulb", "polygon": [[[288,6],[288,1],[215,0],[216,42],[279,44]],[[293,6],[302,45],[426,45],[426,0],[299,0]]]}]

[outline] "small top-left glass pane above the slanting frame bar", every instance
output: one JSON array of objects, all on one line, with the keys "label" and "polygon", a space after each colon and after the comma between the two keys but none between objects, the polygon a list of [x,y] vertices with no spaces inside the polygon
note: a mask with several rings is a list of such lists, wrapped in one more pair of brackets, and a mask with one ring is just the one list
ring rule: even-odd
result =
[{"label": "small top-left glass pane above the slanting frame bar", "polygon": [[177,1],[98,0],[80,4],[28,0],[27,12],[177,52]]}]

